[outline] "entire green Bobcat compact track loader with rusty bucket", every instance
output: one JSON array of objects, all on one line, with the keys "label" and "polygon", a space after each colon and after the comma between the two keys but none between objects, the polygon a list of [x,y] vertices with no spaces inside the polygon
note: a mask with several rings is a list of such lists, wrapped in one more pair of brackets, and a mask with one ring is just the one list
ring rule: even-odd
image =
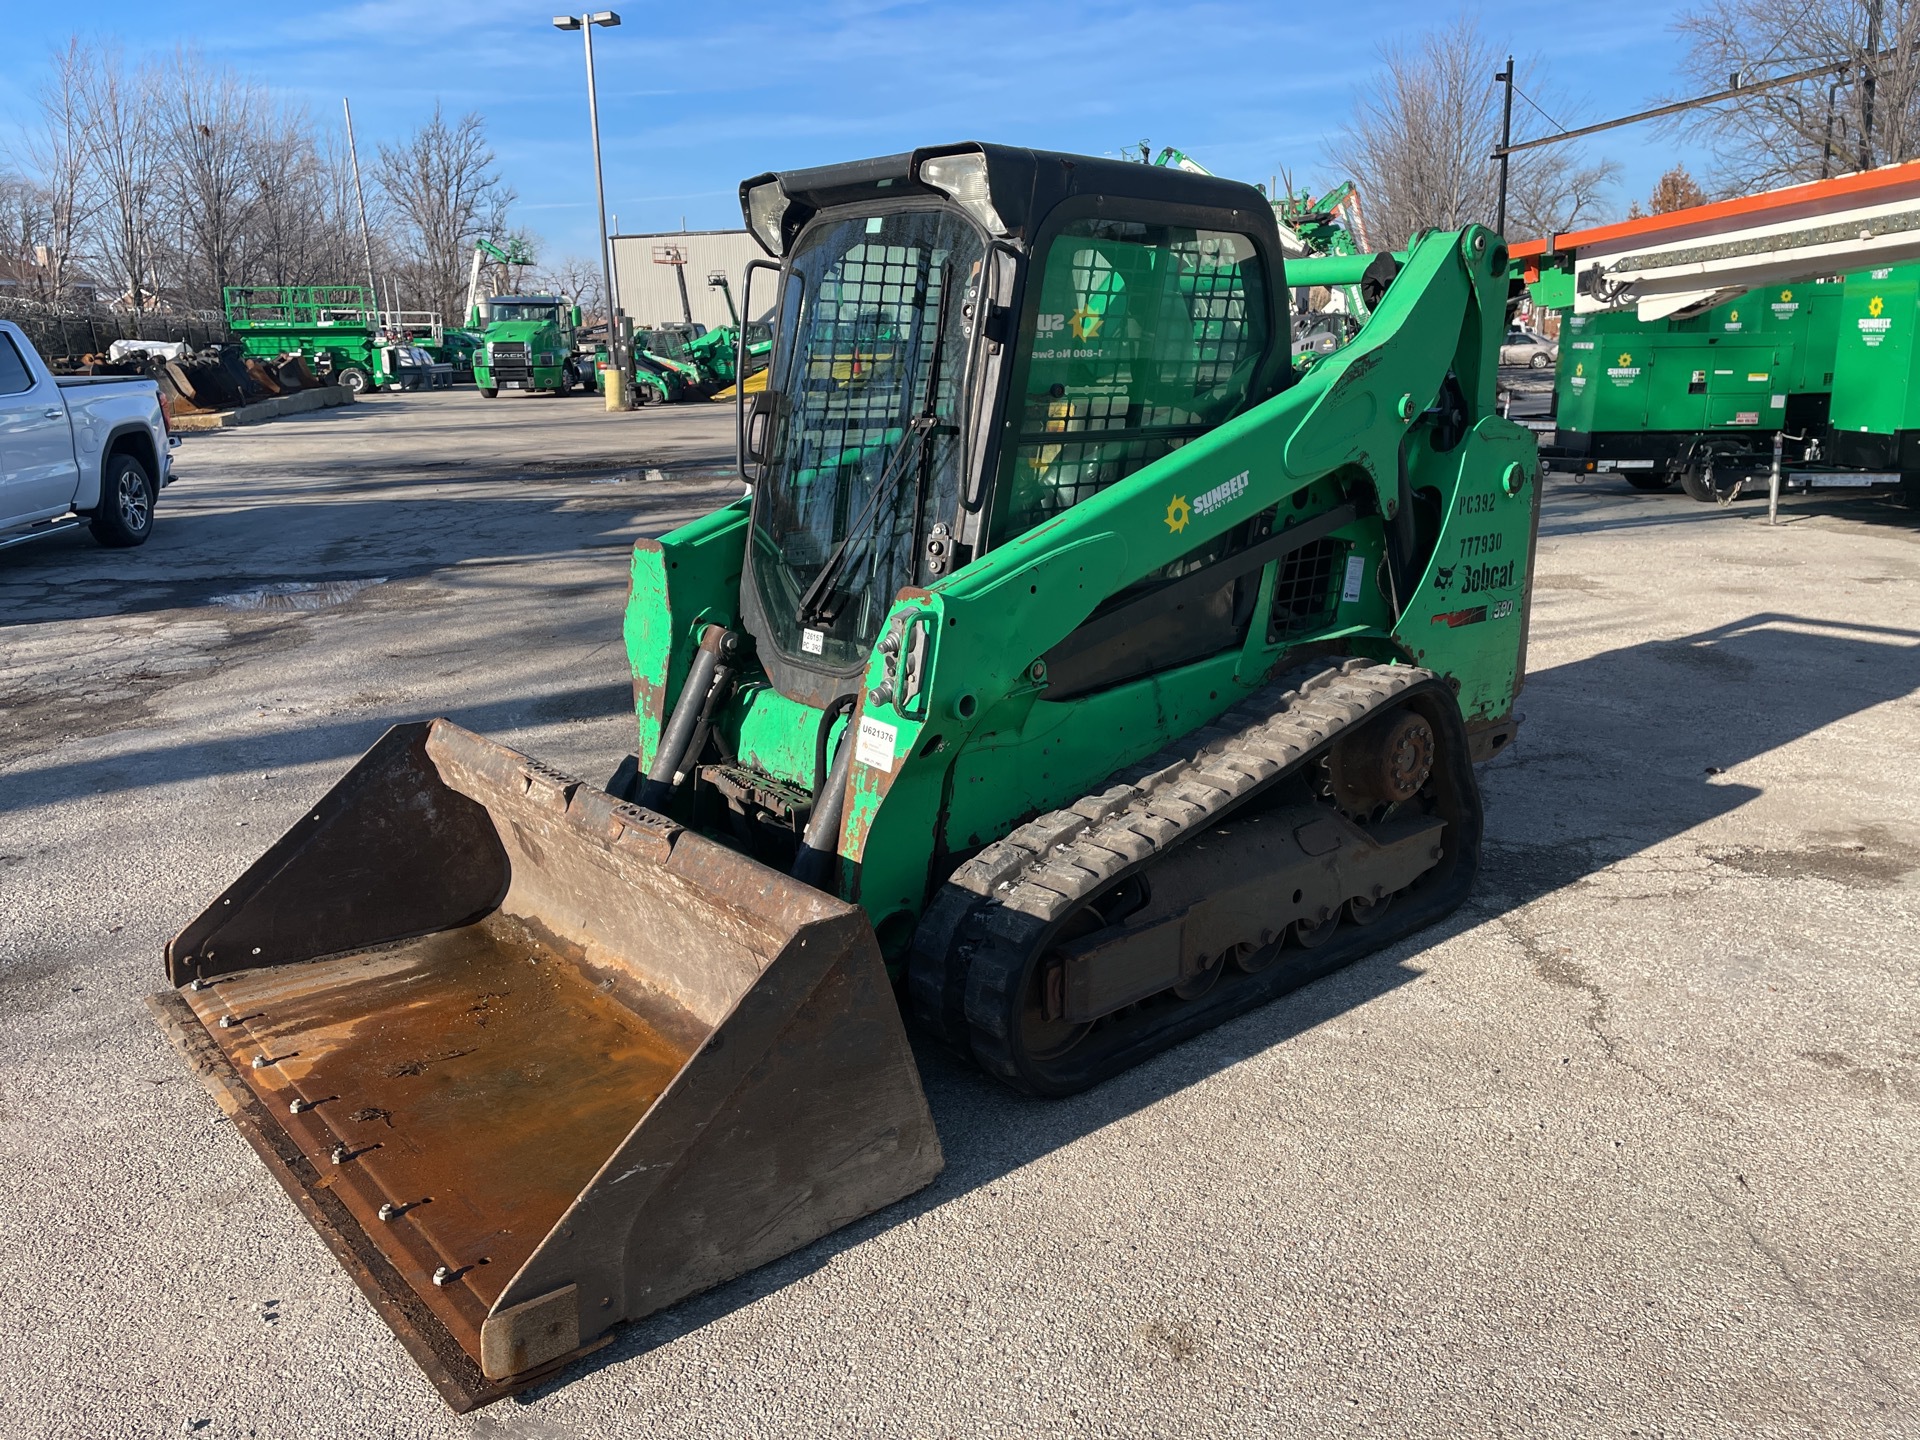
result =
[{"label": "entire green Bobcat compact track loader with rusty bucket", "polygon": [[636,753],[397,726],[167,947],[463,1409],[931,1181],[906,1023],[1068,1094],[1450,914],[1515,733],[1500,236],[1300,372],[1235,180],[958,144],[741,207],[751,493],[634,547]]}]

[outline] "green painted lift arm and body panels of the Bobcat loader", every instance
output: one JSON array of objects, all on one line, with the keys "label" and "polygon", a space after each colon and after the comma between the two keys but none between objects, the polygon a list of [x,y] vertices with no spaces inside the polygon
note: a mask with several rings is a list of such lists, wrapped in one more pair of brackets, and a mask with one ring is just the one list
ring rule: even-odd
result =
[{"label": "green painted lift arm and body panels of the Bobcat loader", "polygon": [[[841,889],[881,931],[902,933],[950,860],[1219,716],[1302,651],[1419,662],[1455,682],[1469,726],[1509,716],[1521,680],[1530,541],[1538,516],[1532,436],[1494,415],[1505,267],[1486,230],[1425,236],[1359,336],[1298,382],[1173,453],[943,578],[902,589],[889,624],[927,632],[912,708],[872,691],[891,659],[868,659],[860,737],[839,851]],[[1031,344],[1031,342],[1029,342]],[[1457,378],[1471,420],[1448,453],[1409,420]],[[1194,545],[1271,511],[1275,528],[1336,503],[1336,482],[1398,505],[1432,493],[1438,526],[1398,622],[1384,597],[1380,515],[1336,532],[1346,564],[1308,630],[1244,643],[1110,689],[1054,703],[1039,657],[1096,605]],[[1367,507],[1361,507],[1367,509]],[[739,501],[634,553],[626,641],[645,766],[703,624],[739,626],[749,534]],[[1273,593],[1277,563],[1261,576]],[[1311,647],[1311,649],[1309,649]],[[1039,666],[1041,672],[1044,666]],[[737,753],[812,785],[820,712],[743,684],[720,722]],[[885,922],[895,918],[895,924]],[[895,947],[889,943],[889,954]],[[897,956],[893,956],[897,958]]]}]

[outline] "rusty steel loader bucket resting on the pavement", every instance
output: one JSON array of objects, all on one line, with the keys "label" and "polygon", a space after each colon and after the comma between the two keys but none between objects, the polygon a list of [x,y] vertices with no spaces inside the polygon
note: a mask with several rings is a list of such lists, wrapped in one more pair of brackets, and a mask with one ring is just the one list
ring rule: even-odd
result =
[{"label": "rusty steel loader bucket resting on the pavement", "polygon": [[858,908],[445,720],[390,730],[167,977],[457,1409],[943,1164]]}]

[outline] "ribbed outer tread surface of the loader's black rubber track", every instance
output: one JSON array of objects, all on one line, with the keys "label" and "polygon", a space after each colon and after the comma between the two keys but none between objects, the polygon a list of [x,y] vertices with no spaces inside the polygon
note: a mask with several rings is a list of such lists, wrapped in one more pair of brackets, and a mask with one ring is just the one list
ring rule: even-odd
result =
[{"label": "ribbed outer tread surface of the loader's black rubber track", "polygon": [[1296,774],[1340,732],[1432,678],[1373,660],[1334,662],[1304,680],[1294,672],[1121,770],[1100,793],[995,841],[927,906],[908,973],[916,1018],[989,1073],[1031,1089],[1006,1021],[1016,1014],[1010,991],[1046,931],[1121,872]]}]

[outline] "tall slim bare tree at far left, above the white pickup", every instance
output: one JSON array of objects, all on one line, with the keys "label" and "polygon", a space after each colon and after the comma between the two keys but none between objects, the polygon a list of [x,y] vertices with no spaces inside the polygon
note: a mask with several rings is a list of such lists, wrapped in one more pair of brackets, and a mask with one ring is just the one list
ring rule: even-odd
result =
[{"label": "tall slim bare tree at far left, above the white pickup", "polygon": [[92,54],[79,71],[100,275],[111,276],[132,311],[154,300],[148,276],[159,188],[157,88],[154,73],[129,71],[119,50]]}]

